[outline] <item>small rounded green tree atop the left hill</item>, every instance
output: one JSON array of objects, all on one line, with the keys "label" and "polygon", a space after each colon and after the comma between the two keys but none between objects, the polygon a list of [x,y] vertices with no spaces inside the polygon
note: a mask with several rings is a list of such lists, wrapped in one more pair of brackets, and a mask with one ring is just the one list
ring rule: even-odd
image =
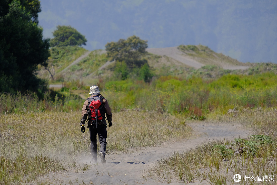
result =
[{"label": "small rounded green tree atop the left hill", "polygon": [[54,38],[50,40],[50,46],[74,46],[86,45],[85,36],[81,35],[75,28],[71,26],[57,26],[53,32]]}]

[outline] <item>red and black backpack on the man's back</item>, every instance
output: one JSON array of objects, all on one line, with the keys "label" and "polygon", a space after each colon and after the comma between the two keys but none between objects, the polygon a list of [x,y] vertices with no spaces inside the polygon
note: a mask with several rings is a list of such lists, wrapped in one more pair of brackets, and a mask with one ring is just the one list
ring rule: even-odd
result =
[{"label": "red and black backpack on the man's back", "polygon": [[104,97],[93,96],[87,99],[89,110],[88,118],[92,120],[92,123],[94,122],[94,120],[96,121],[96,128],[98,120],[102,120],[103,117],[106,118],[102,98]]}]

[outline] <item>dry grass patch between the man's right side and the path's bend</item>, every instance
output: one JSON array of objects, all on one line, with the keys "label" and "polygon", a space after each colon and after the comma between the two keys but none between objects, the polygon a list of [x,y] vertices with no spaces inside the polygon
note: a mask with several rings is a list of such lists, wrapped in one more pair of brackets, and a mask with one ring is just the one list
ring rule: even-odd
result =
[{"label": "dry grass patch between the man's right side and the path's bend", "polygon": [[157,146],[191,136],[191,128],[184,120],[167,113],[150,111],[121,111],[113,115],[115,127],[109,130],[108,148],[125,150]]}]

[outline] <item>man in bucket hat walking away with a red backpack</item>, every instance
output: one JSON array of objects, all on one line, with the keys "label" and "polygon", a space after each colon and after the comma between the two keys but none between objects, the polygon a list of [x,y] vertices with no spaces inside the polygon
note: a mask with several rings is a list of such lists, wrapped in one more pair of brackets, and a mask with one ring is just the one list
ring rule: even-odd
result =
[{"label": "man in bucket hat walking away with a red backpack", "polygon": [[101,158],[101,163],[106,163],[107,123],[105,114],[110,127],[112,126],[112,112],[106,98],[100,94],[98,86],[91,86],[89,94],[91,94],[91,96],[86,99],[82,108],[82,119],[80,122],[81,132],[85,132],[84,125],[87,121],[90,134],[90,149],[93,156],[92,162],[97,163],[96,135],[98,134],[100,142],[99,156]]}]

